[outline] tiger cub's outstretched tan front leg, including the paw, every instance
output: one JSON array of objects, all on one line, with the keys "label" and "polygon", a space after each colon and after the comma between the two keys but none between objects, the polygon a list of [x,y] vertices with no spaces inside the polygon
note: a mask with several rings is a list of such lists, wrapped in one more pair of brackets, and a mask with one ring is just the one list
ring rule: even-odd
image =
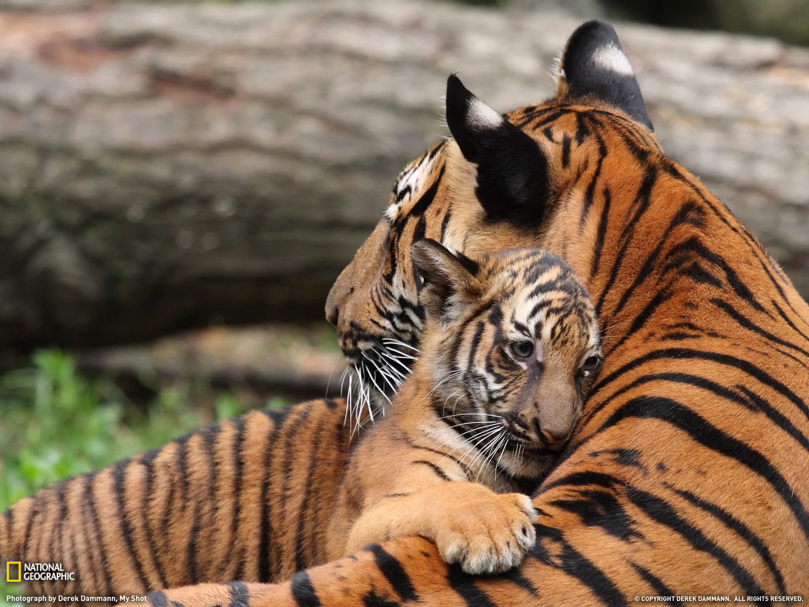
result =
[{"label": "tiger cub's outstretched tan front leg, including the paw", "polygon": [[502,573],[523,562],[536,541],[536,511],[527,495],[497,494],[477,482],[442,482],[388,495],[362,512],[346,554],[377,541],[421,535],[444,561],[469,574]]}]

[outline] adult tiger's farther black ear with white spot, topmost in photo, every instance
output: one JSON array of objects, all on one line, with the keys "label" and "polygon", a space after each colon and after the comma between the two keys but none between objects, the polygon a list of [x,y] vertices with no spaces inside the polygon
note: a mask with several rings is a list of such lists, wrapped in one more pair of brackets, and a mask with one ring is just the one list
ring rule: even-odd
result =
[{"label": "adult tiger's farther black ear with white spot, topmost in photo", "polygon": [[583,23],[570,36],[559,60],[557,96],[602,100],[654,130],[618,35],[604,21]]}]

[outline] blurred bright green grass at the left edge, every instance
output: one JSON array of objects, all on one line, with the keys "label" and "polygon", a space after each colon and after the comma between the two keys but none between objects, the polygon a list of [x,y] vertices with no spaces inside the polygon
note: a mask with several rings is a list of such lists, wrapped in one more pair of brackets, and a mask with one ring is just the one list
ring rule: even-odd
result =
[{"label": "blurred bright green grass at the left edge", "polygon": [[[167,443],[212,420],[236,417],[244,405],[228,394],[213,410],[189,406],[187,385],[165,388],[134,407],[111,381],[89,380],[69,354],[43,350],[28,368],[0,376],[0,511],[74,474]],[[289,405],[273,399],[269,407]],[[0,571],[0,605],[21,592]]]}]

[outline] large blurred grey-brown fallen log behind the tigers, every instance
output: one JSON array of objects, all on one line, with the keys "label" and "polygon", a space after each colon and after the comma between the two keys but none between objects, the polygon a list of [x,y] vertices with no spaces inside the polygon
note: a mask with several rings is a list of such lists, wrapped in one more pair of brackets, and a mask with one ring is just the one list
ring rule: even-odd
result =
[{"label": "large blurred grey-brown fallen log behind the tigers", "polygon": [[[437,3],[41,2],[0,2],[6,347],[321,318],[394,176],[442,134],[447,74],[501,110],[536,101],[577,25]],[[663,146],[809,293],[809,50],[618,30]]]}]

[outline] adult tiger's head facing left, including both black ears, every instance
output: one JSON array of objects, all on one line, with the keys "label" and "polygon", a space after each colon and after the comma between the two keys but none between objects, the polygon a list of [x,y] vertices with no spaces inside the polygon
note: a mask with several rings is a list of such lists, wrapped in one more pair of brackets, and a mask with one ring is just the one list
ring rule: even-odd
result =
[{"label": "adult tiger's head facing left, including both black ears", "polygon": [[[571,201],[582,206],[594,196],[604,149],[621,142],[604,164],[615,173],[633,155],[659,152],[616,33],[599,21],[570,37],[557,65],[556,93],[543,104],[500,114],[450,76],[447,125],[453,138],[404,168],[382,219],[326,302],[326,317],[356,371],[354,386],[368,405],[383,404],[396,391],[421,339],[425,311],[410,257],[414,242],[430,238],[469,257],[543,246],[569,261],[570,241],[554,232],[554,222]],[[588,220],[582,211],[582,226],[592,235]],[[587,239],[595,236],[582,236]],[[574,265],[581,277],[588,270]]]}]

